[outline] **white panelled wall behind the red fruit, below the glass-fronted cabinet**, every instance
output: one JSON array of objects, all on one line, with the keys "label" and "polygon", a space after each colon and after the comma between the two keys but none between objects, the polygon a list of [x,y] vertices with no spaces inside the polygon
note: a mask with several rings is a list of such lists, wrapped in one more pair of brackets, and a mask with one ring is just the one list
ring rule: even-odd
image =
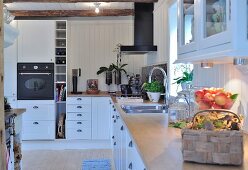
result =
[{"label": "white panelled wall behind the red fruit, below the glass-fronted cabinet", "polygon": [[248,75],[243,74],[232,64],[215,65],[211,69],[203,69],[194,65],[194,85],[224,87],[239,97],[232,110],[245,115],[245,130],[248,131]]}]

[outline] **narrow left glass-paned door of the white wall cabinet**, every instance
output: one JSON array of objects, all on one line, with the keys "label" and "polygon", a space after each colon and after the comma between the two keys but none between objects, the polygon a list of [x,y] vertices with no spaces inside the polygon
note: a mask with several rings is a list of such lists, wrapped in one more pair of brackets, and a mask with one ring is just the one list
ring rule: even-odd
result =
[{"label": "narrow left glass-paned door of the white wall cabinet", "polygon": [[196,0],[178,0],[178,54],[196,51]]}]

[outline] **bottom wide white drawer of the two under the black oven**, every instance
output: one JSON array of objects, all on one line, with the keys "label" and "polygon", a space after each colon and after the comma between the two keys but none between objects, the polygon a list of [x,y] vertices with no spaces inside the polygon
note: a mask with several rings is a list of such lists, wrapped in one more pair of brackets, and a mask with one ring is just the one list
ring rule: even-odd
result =
[{"label": "bottom wide white drawer of the two under the black oven", "polygon": [[55,121],[24,121],[22,140],[54,140]]}]

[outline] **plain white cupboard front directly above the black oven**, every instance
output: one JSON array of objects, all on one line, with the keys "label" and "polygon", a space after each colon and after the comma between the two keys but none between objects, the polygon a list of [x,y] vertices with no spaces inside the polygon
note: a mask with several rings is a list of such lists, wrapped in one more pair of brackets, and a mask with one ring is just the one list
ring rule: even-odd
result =
[{"label": "plain white cupboard front directly above the black oven", "polygon": [[55,21],[18,21],[18,62],[53,62]]}]

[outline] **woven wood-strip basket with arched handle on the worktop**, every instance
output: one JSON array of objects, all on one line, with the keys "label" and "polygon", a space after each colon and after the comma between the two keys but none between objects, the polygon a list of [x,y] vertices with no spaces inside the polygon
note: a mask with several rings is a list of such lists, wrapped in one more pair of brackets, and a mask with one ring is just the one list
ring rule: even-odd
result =
[{"label": "woven wood-strip basket with arched handle on the worktop", "polygon": [[[230,113],[230,111],[228,112]],[[234,130],[183,129],[182,152],[184,161],[241,165],[243,163],[243,133]]]}]

